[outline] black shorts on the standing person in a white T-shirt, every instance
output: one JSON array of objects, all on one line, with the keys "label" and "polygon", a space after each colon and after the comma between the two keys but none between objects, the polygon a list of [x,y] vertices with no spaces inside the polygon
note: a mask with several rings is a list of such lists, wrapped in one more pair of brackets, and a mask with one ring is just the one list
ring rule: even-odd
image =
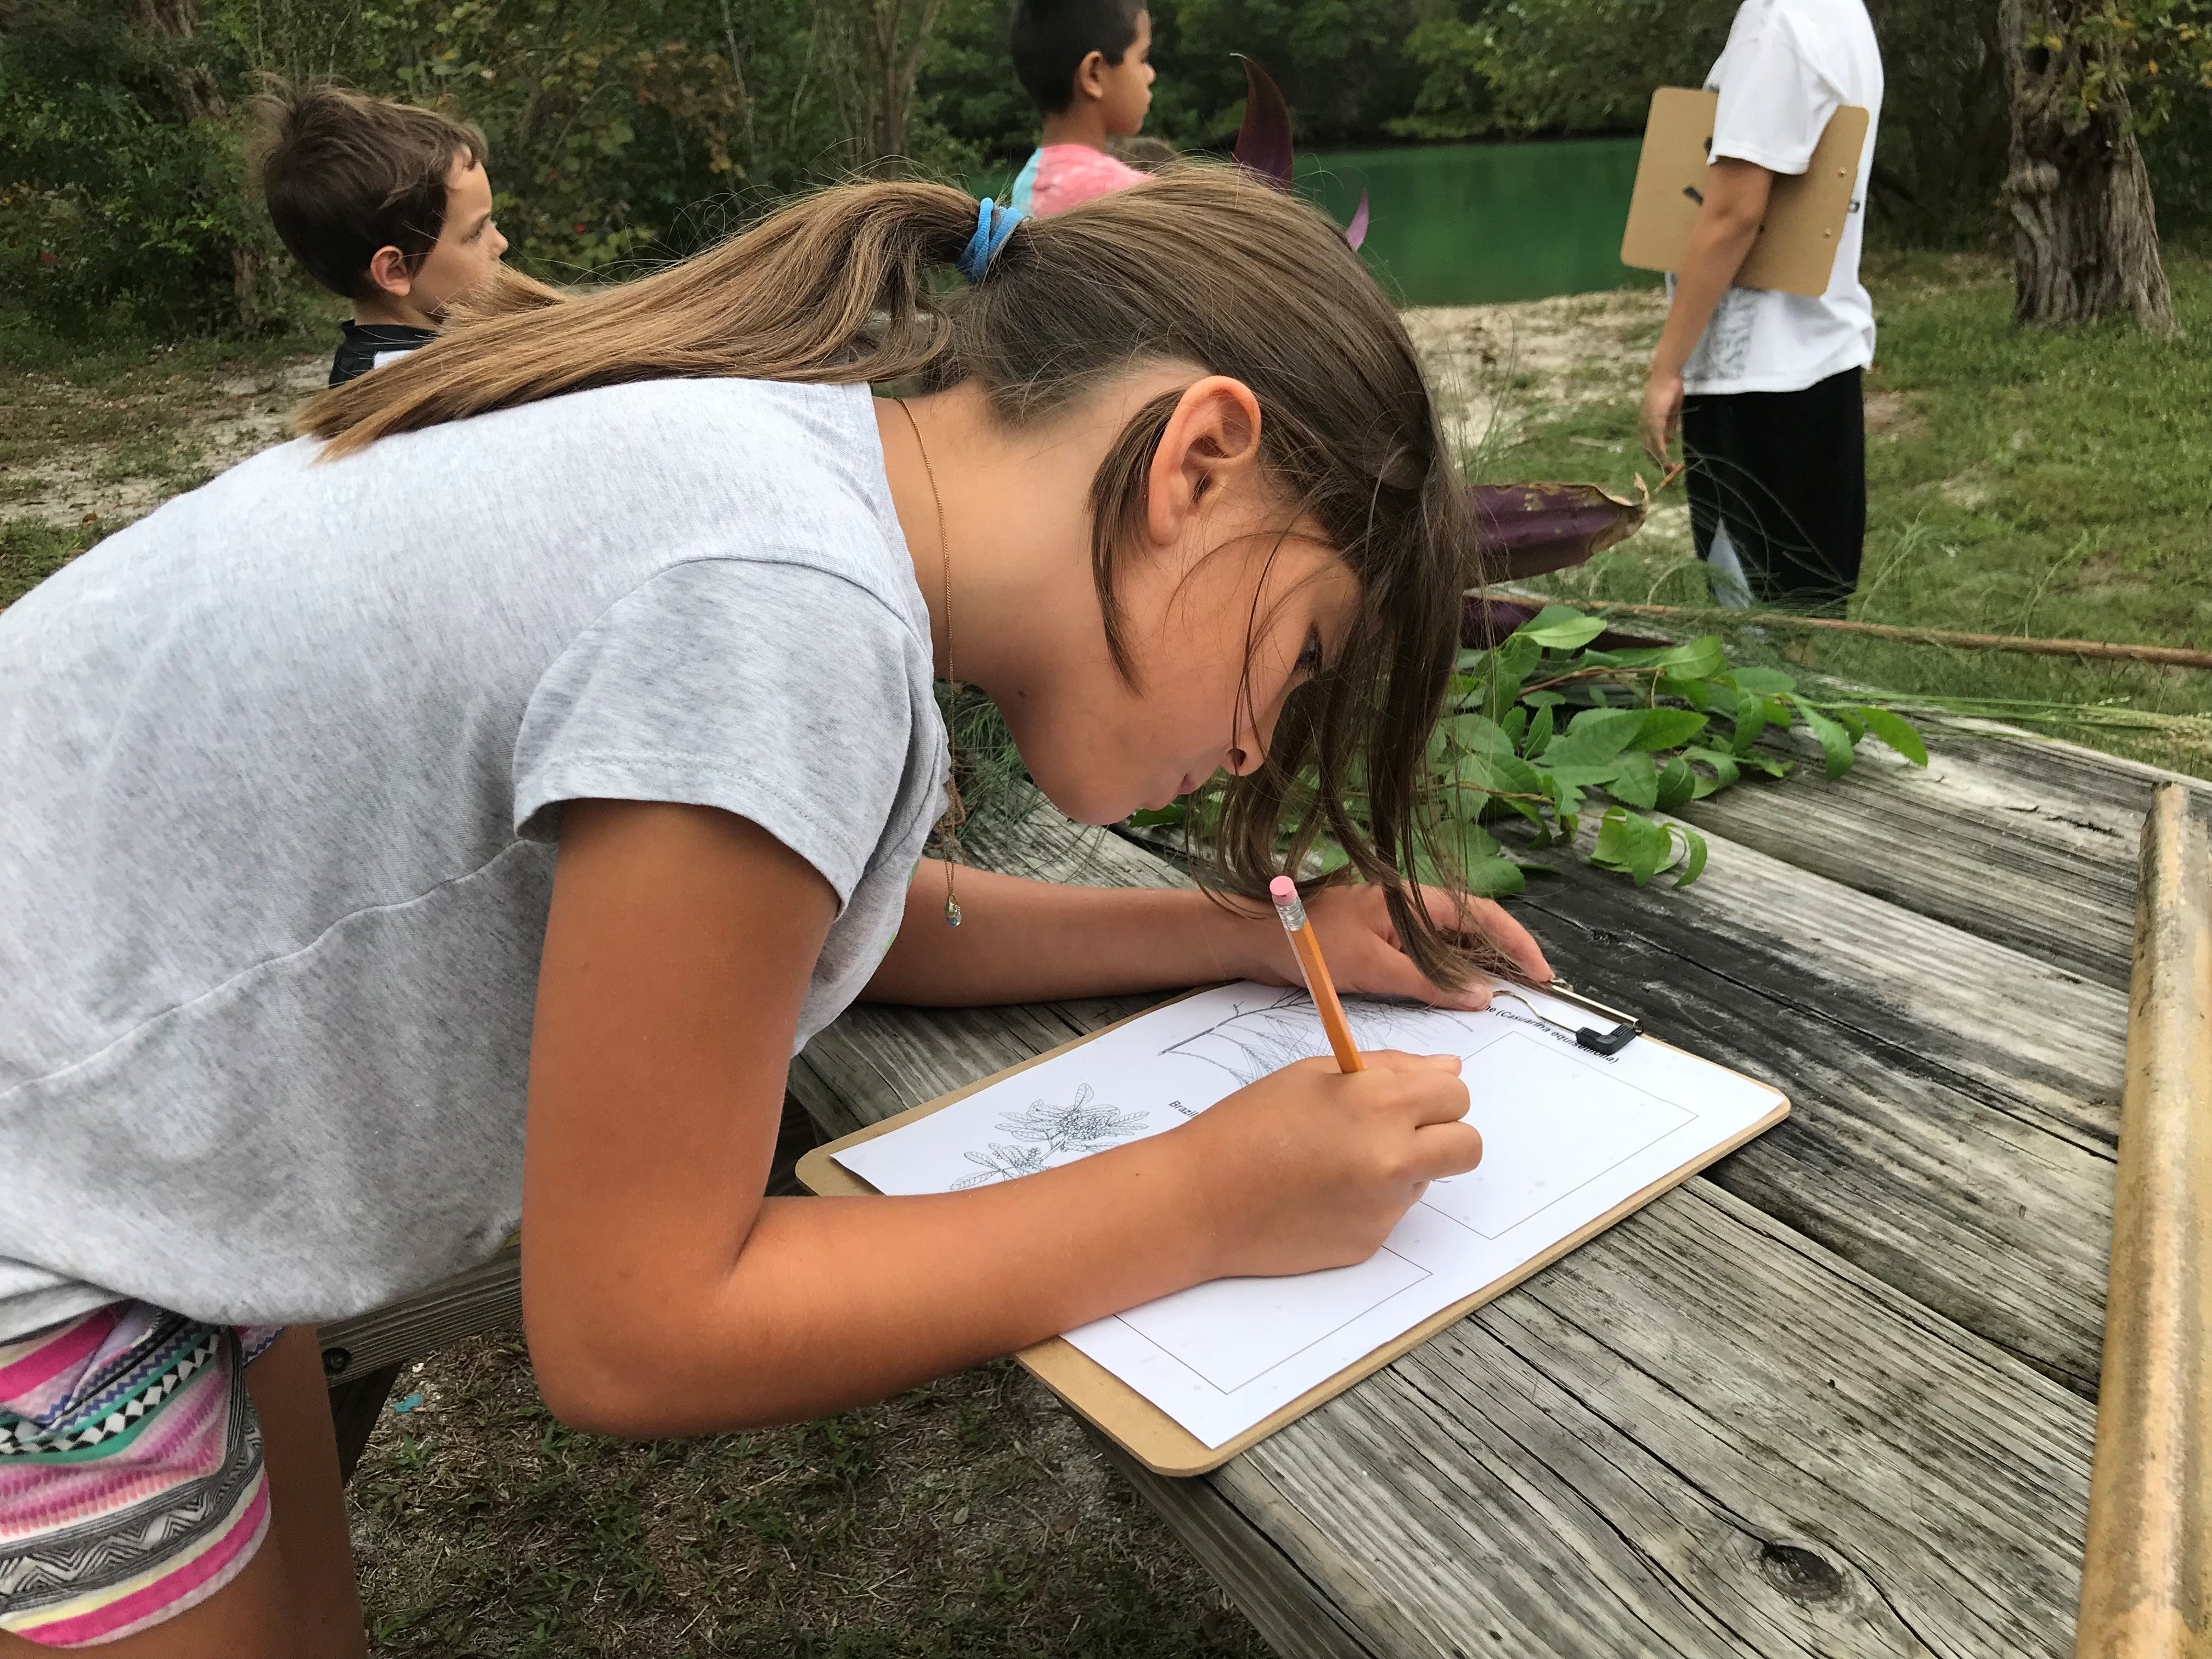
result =
[{"label": "black shorts on the standing person in a white T-shirt", "polygon": [[1860,372],[1803,392],[1703,392],[1681,400],[1697,555],[1723,535],[1750,599],[1843,615],[1867,540]]}]

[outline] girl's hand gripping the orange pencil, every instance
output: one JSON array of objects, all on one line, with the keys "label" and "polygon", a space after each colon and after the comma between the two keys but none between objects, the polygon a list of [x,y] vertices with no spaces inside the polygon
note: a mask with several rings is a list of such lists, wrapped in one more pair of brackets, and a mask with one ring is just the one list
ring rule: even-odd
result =
[{"label": "girl's hand gripping the orange pencil", "polygon": [[1301,1060],[1190,1124],[1206,1172],[1219,1276],[1303,1274],[1367,1261],[1429,1181],[1482,1161],[1458,1055],[1371,1053],[1349,1077]]}]

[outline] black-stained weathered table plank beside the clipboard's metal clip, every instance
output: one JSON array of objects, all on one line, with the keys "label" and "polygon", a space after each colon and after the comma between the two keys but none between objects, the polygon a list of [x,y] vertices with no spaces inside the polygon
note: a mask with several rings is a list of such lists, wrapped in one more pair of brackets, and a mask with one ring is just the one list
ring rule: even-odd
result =
[{"label": "black-stained weathered table plank beside the clipboard's metal clip", "polygon": [[1708,1179],[2095,1394],[2117,993],[1719,836],[1688,889],[1533,894],[1577,987],[1792,1097]]}]

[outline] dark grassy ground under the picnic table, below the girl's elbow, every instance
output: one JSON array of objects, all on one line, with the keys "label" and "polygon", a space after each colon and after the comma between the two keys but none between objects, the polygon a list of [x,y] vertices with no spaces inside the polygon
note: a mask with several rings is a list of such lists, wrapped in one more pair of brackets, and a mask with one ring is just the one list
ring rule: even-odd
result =
[{"label": "dark grassy ground under the picnic table, below the girl's elbow", "polygon": [[515,1338],[409,1376],[349,1491],[380,1659],[1263,1659],[1011,1363],[794,1429],[630,1444]]}]

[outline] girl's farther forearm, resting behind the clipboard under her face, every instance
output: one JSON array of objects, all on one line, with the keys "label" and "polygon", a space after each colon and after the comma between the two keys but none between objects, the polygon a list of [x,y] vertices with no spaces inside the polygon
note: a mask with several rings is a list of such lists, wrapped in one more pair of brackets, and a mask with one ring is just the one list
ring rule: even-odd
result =
[{"label": "girl's farther forearm, resting behind the clipboard under her face", "polygon": [[1055,887],[958,872],[960,927],[945,922],[945,865],[925,858],[874,1002],[982,1006],[1164,991],[1252,971],[1254,914],[1166,887]]}]

